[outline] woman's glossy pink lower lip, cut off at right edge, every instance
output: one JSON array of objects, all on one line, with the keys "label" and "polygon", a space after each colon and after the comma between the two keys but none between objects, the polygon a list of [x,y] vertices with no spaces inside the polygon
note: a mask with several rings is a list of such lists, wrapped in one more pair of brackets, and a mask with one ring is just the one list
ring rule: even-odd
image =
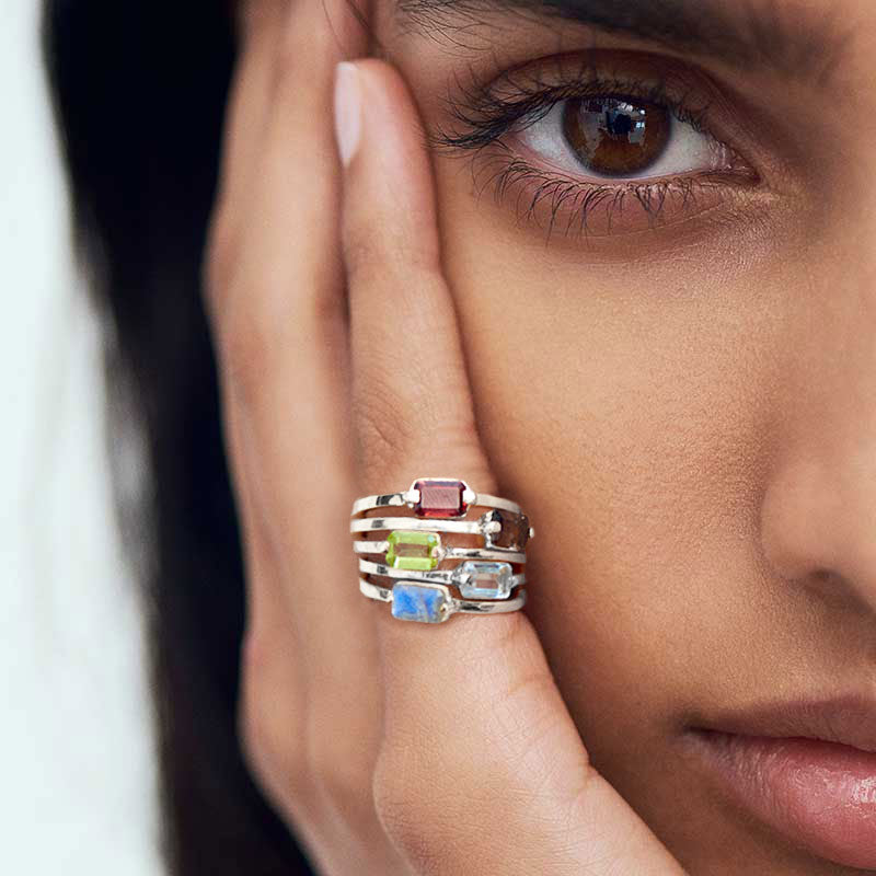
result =
[{"label": "woman's glossy pink lower lip, cut off at right edge", "polygon": [[779,833],[849,867],[876,867],[876,753],[800,737],[691,734],[733,797]]}]

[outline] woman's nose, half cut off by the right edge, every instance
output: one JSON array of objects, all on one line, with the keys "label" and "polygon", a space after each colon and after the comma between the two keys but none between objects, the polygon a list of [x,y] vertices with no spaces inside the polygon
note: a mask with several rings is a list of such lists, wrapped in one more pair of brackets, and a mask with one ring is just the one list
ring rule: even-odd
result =
[{"label": "woman's nose, half cut off by the right edge", "polygon": [[876,614],[876,265],[855,264],[796,318],[761,539],[776,574]]}]

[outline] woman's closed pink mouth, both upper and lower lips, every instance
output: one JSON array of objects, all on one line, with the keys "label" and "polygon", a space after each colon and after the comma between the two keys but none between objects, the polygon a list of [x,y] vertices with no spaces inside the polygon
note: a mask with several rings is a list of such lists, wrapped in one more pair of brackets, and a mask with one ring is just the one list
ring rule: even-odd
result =
[{"label": "woman's closed pink mouth, both upper and lower lips", "polygon": [[876,699],[758,704],[688,738],[725,792],[792,843],[876,868]]}]

